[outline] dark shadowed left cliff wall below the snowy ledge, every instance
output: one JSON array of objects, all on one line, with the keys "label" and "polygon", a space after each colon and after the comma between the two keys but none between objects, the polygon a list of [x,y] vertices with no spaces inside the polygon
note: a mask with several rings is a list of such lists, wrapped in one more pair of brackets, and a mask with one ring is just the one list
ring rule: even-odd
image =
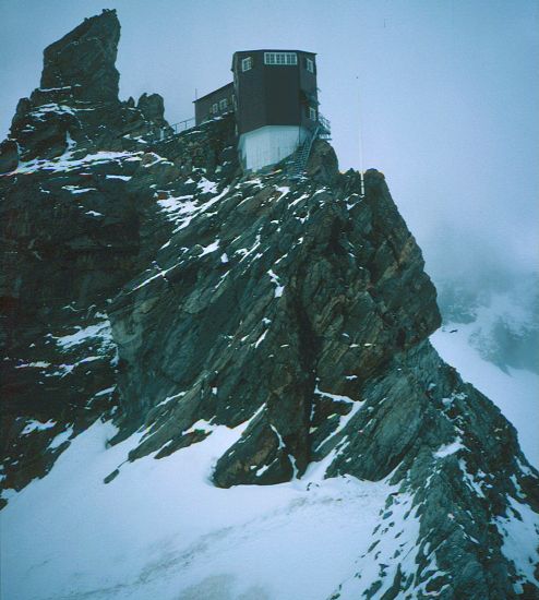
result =
[{"label": "dark shadowed left cliff wall below the snowy ledge", "polygon": [[[194,165],[229,155],[227,127],[218,123],[216,131],[178,144],[170,152],[176,158],[142,144],[144,149],[133,152],[79,148],[0,178],[7,487],[20,489],[50,468],[67,447],[48,449],[56,435],[69,429],[76,434],[118,409],[122,365],[110,333],[110,300],[152,264],[171,235],[158,200],[171,189],[195,189],[202,175]],[[160,152],[169,145],[164,142]],[[201,153],[207,146],[213,149]],[[21,435],[28,421],[56,425]]]}]

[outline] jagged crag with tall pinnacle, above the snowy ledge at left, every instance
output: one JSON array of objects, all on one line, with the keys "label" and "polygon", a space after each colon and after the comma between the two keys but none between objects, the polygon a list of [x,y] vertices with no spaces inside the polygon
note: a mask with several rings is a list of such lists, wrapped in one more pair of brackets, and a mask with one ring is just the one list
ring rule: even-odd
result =
[{"label": "jagged crag with tall pinnacle, above the snowy ledge at left", "polygon": [[45,50],[41,86],[19,101],[9,145],[0,148],[0,173],[77,147],[147,149],[170,135],[158,94],[143,94],[137,107],[132,99],[119,100],[119,36],[116,12],[105,10]]}]

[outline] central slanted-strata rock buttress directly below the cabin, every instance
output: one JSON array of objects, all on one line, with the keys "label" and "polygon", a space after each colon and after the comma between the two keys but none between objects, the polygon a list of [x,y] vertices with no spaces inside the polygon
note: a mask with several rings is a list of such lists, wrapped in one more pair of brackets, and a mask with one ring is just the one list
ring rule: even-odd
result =
[{"label": "central slanted-strata rock buttress directly below the cabin", "polygon": [[383,177],[367,189],[361,200],[354,175],[327,187],[271,173],[161,201],[175,232],[109,310],[125,412],[149,428],[135,455],[173,452],[201,418],[236,427],[256,413],[216,482],[287,480],[367,382],[436,328]]}]

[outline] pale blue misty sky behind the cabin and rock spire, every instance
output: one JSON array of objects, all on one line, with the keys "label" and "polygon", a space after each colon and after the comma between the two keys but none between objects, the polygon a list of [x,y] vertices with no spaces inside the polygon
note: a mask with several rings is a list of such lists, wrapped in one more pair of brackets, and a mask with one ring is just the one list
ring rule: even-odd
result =
[{"label": "pale blue misty sky behind the cabin and rock spire", "polygon": [[[439,279],[537,267],[537,0],[0,0],[0,134],[43,49],[103,8],[122,25],[120,96],[166,117],[231,81],[236,50],[318,52],[340,168],[382,170]],[[360,119],[361,115],[361,119]]]}]

